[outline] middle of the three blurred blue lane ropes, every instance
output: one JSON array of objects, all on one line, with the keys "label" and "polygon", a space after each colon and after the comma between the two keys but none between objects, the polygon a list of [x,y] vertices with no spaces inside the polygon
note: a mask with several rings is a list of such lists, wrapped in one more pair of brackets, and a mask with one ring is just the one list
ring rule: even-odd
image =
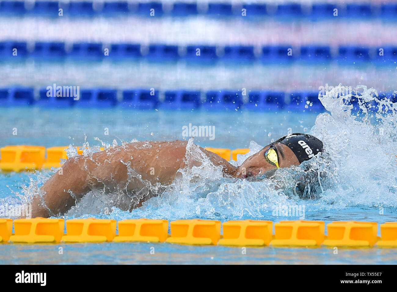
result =
[{"label": "middle of the three blurred blue lane ropes", "polygon": [[[260,55],[255,53],[254,46],[225,46],[223,48],[223,56],[218,56],[216,46],[206,45],[189,45],[179,48],[176,45],[166,44],[150,44],[145,55],[142,54],[140,44],[110,44],[108,46],[108,56],[105,56],[105,45],[102,43],[74,43],[71,50],[66,49],[65,43],[54,42],[37,42],[33,50],[28,50],[28,44],[18,41],[2,41],[0,42],[0,58],[16,58],[13,54],[17,49],[19,57],[35,57],[35,58],[140,58],[145,57],[155,60],[176,60],[184,58],[191,61],[215,61],[218,59],[231,60],[255,60],[262,59],[276,61],[293,61],[293,60],[379,60],[397,61],[397,46],[380,46],[370,48],[367,46],[339,46],[336,56],[332,56],[330,46],[309,45],[301,46],[300,53],[296,48],[289,54],[291,46],[288,45],[272,45],[263,46]],[[200,56],[197,56],[200,49]],[[219,48],[218,48],[219,49]],[[382,54],[380,54],[382,52]]]}]

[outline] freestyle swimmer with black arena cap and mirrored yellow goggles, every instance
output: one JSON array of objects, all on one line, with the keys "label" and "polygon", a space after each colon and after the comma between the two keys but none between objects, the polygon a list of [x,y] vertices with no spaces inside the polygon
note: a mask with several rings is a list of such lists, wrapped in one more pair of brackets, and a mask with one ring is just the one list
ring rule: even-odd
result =
[{"label": "freestyle swimmer with black arena cap and mirrored yellow goggles", "polygon": [[[133,142],[93,153],[90,156],[70,158],[40,188],[43,194],[32,200],[32,217],[50,217],[68,211],[75,200],[80,200],[91,190],[127,191],[139,193],[145,185],[167,186],[175,179],[177,171],[189,166],[200,166],[200,158],[189,155],[186,161],[187,141]],[[322,152],[323,143],[308,134],[293,133],[267,145],[248,157],[241,166],[233,166],[219,155],[198,147],[215,165],[222,166],[225,176],[247,178],[261,176],[269,170],[299,165]],[[129,166],[128,166],[129,165]],[[131,174],[132,172],[132,174]],[[135,174],[135,176],[134,176]],[[136,176],[137,175],[137,176]],[[142,180],[137,177],[141,176]],[[140,207],[146,199],[158,195],[149,193],[135,198],[131,209]]]}]

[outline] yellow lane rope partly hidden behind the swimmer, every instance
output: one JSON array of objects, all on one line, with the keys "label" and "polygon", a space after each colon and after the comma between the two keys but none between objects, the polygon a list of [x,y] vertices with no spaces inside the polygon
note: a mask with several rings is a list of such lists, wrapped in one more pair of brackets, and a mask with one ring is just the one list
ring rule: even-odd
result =
[{"label": "yellow lane rope partly hidden behind the swimmer", "polygon": [[[22,171],[42,168],[60,167],[61,159],[67,159],[66,149],[69,146],[57,146],[45,148],[43,146],[15,145],[0,148],[0,170]],[[77,154],[83,154],[83,147],[76,147]],[[206,148],[208,151],[218,154],[229,161],[231,158],[237,161],[237,154],[246,154],[249,149],[235,149],[231,151],[225,148]],[[103,151],[104,148],[100,147]]]}]

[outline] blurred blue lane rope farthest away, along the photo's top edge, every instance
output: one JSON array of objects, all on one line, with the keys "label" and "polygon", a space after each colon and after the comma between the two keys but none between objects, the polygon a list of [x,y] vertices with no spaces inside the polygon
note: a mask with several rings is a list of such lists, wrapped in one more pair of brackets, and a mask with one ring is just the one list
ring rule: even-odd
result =
[{"label": "blurred blue lane rope farthest away, along the photo's top edge", "polygon": [[382,17],[395,19],[397,16],[396,3],[384,3],[381,5],[371,5],[362,3],[350,3],[346,6],[338,4],[312,4],[307,7],[300,3],[287,3],[279,5],[271,4],[244,4],[232,6],[227,2],[208,3],[208,8],[201,10],[197,3],[175,2],[170,11],[164,9],[161,2],[104,2],[97,5],[91,1],[35,1],[29,7],[29,1],[1,1],[0,14],[40,14],[58,16],[58,9],[64,10],[64,15],[72,16],[93,16],[93,15],[115,15],[115,14],[150,14],[150,9],[154,9],[155,16],[174,15],[188,16],[197,14],[207,15],[242,15],[242,9],[246,9],[246,16],[266,16],[276,17],[333,17],[334,9],[338,9],[338,16],[344,17]]}]

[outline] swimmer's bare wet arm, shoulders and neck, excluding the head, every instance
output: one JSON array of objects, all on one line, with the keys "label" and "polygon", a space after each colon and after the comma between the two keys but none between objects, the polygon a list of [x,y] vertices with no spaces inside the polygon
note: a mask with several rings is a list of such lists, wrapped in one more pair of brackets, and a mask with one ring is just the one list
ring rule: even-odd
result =
[{"label": "swimmer's bare wet arm, shoulders and neck, excluding the head", "polygon": [[[94,153],[92,157],[68,159],[40,188],[32,199],[32,217],[50,217],[68,211],[88,191],[96,188],[116,190],[141,188],[140,180],[128,179],[126,164],[143,180],[155,184],[170,184],[176,172],[185,167],[186,141],[153,142],[149,148],[143,142]],[[233,175],[237,168],[219,155],[201,148],[215,165],[222,165],[225,174]],[[162,157],[162,158],[160,158]],[[194,163],[199,165],[200,163]],[[137,207],[137,206],[135,206]]]}]

